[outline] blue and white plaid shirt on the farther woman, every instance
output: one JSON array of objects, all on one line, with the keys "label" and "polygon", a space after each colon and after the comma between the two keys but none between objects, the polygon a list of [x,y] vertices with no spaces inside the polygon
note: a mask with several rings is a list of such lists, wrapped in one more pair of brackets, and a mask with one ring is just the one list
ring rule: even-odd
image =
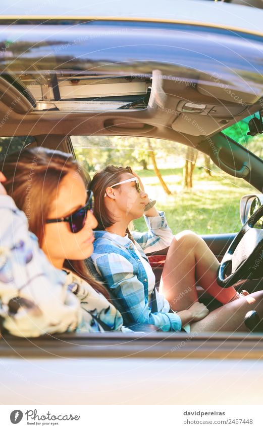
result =
[{"label": "blue and white plaid shirt on the farther woman", "polygon": [[120,310],[124,324],[154,324],[163,331],[178,331],[182,322],[178,315],[169,312],[170,306],[156,291],[157,311],[151,311],[148,301],[148,278],[134,246],[147,261],[144,252],[154,252],[171,244],[173,233],[167,225],[164,212],[155,217],[144,216],[148,231],[133,232],[135,244],[108,231],[95,231],[94,252],[90,259],[100,278],[108,287],[114,305]]}]

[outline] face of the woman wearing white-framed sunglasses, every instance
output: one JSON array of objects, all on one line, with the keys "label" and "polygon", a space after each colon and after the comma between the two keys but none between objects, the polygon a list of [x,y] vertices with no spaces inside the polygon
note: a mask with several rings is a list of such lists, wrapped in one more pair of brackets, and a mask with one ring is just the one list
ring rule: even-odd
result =
[{"label": "face of the woman wearing white-framed sunglasses", "polygon": [[[131,178],[134,178],[131,173],[124,173],[118,182]],[[125,215],[131,220],[140,218],[143,215],[148,194],[145,191],[138,192],[135,181],[121,184],[118,188],[113,187],[112,191],[115,200],[113,208],[116,207],[118,211],[116,215]]]}]

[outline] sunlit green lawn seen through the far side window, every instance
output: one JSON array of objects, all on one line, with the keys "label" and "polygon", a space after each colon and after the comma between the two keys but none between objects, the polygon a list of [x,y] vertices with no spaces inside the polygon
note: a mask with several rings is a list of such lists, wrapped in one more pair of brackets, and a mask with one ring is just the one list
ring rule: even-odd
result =
[{"label": "sunlit green lawn seen through the far side window", "polygon": [[[168,196],[153,170],[137,171],[146,192],[157,200],[156,208],[166,213],[173,233],[190,229],[198,234],[218,234],[239,231],[239,202],[244,194],[255,189],[243,179],[234,178],[216,167],[211,177],[196,168],[192,190],[182,187],[183,169],[162,169],[161,174],[172,191]],[[258,192],[258,191],[256,191]],[[136,230],[145,231],[143,218],[134,221]]]}]

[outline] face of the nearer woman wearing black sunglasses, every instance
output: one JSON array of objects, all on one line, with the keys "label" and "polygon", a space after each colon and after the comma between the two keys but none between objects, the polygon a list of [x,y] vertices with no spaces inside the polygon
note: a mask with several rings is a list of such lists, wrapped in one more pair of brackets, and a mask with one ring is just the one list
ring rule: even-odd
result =
[{"label": "face of the nearer woman wearing black sunglasses", "polygon": [[[56,199],[52,202],[48,219],[62,218],[83,207],[87,200],[81,176],[72,171],[61,181]],[[84,227],[72,233],[69,222],[45,224],[42,250],[55,267],[62,268],[65,259],[84,260],[93,252],[93,231],[97,221],[90,211]]]}]

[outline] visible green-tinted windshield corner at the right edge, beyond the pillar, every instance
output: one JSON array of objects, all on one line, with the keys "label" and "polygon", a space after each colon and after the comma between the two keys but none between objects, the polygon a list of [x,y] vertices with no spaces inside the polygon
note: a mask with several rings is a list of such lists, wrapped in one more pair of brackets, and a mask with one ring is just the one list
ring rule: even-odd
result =
[{"label": "visible green-tinted windshield corner at the right edge, beyond the pillar", "polygon": [[[231,139],[235,140],[240,145],[245,146],[247,149],[249,149],[251,152],[257,155],[257,157],[263,159],[263,133],[262,133],[263,127],[261,126],[261,133],[256,133],[254,136],[251,135],[250,134],[251,130],[249,131],[249,126],[248,126],[251,120],[254,124],[259,125],[260,123],[259,111],[256,113],[253,113],[253,115],[247,116],[247,118],[244,118],[238,123],[228,127],[223,131],[223,133],[226,136],[231,137]],[[255,127],[254,127],[254,131],[256,132]]]}]

